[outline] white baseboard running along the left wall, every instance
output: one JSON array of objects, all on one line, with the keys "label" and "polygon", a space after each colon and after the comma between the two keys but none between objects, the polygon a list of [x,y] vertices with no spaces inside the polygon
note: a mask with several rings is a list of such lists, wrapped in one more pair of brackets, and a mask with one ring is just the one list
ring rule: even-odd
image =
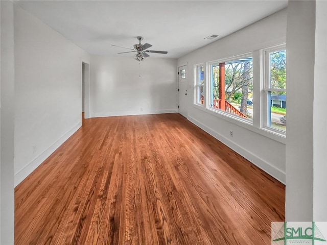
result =
[{"label": "white baseboard running along the left wall", "polygon": [[42,152],[33,161],[28,163],[24,168],[19,170],[18,173],[15,174],[15,178],[14,178],[15,187],[26,177],[28,177],[46,158],[48,158],[54,151],[56,151],[59,148],[59,146],[63,142],[65,142],[69,137],[71,137],[81,126],[82,126],[82,122],[80,121],[76,126],[74,126],[71,130],[65,133],[55,143],[49,146],[48,149]]}]

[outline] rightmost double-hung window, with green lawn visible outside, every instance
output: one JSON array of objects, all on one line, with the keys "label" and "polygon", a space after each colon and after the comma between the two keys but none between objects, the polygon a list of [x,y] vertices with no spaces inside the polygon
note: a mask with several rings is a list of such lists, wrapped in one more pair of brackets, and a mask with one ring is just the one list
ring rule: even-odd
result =
[{"label": "rightmost double-hung window, with green lawn visible outside", "polygon": [[268,48],[264,56],[264,127],[286,131],[286,50]]}]

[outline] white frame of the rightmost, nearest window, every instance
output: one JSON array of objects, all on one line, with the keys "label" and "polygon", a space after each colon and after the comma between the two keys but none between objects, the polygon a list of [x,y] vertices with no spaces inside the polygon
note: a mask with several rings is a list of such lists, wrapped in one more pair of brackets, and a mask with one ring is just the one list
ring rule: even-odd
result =
[{"label": "white frame of the rightmost, nearest window", "polygon": [[[286,88],[271,88],[270,87],[270,53],[286,50],[286,43],[270,46],[260,50],[260,66],[261,66],[261,128],[286,136],[286,131],[269,126],[271,122],[271,100],[269,100],[269,92],[286,92]],[[287,52],[287,51],[286,51]],[[286,68],[287,69],[287,68]],[[287,73],[287,71],[286,71]]]}]

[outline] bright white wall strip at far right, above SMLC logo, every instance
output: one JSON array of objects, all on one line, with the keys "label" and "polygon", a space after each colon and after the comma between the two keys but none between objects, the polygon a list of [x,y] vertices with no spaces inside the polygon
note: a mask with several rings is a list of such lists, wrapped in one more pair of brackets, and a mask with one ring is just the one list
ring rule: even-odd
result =
[{"label": "bright white wall strip at far right, above SMLC logo", "polygon": [[313,220],[327,220],[327,2],[316,1],[315,84],[313,104]]}]

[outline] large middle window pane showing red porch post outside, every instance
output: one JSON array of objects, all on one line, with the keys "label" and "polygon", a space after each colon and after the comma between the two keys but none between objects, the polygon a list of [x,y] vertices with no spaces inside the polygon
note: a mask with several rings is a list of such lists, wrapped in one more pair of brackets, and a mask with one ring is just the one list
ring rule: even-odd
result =
[{"label": "large middle window pane showing red porch post outside", "polygon": [[209,64],[210,101],[212,109],[252,119],[252,56],[241,56],[226,62]]}]

